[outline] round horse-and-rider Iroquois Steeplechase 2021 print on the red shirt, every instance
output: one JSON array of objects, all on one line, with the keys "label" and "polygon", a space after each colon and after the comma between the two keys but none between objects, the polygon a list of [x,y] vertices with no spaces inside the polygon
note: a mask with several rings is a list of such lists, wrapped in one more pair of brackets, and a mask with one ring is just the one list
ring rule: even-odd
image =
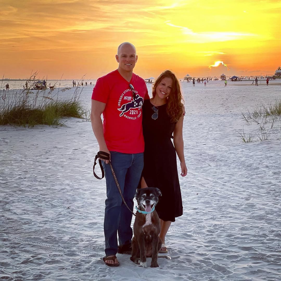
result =
[{"label": "round horse-and-rider Iroquois Steeplechase 2021 print on the red shirt", "polygon": [[[131,95],[125,96],[125,94],[128,92],[130,92]],[[124,101],[130,100],[130,102],[124,103],[123,105],[121,105],[122,100],[124,100]],[[142,105],[143,105],[143,98],[139,94],[137,94],[137,91],[136,91],[135,98],[133,98],[132,90],[131,89],[125,90],[121,94],[121,96],[118,100],[119,108],[117,108],[117,109],[119,111],[121,111],[119,116],[120,117],[124,116],[125,118],[128,118],[128,119],[137,119],[141,115],[140,109],[142,108]]]}]

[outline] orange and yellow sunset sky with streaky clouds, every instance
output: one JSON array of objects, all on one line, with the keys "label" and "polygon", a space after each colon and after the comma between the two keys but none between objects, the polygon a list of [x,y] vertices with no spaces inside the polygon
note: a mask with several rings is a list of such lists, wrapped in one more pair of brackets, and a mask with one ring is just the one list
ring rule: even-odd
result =
[{"label": "orange and yellow sunset sky with streaky clouds", "polygon": [[[272,74],[281,65],[281,1],[0,0],[1,78],[97,79],[129,41],[143,78]],[[220,61],[221,63],[216,63]],[[212,66],[213,65],[213,66]]]}]

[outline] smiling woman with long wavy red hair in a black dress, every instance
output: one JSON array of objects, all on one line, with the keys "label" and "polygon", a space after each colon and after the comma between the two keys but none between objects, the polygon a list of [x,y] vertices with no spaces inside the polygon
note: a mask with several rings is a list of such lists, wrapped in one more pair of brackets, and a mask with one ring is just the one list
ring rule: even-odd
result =
[{"label": "smiling woman with long wavy red hair in a black dress", "polygon": [[[144,134],[144,169],[141,188],[157,187],[162,197],[156,206],[160,218],[159,253],[167,253],[165,236],[175,217],[182,216],[182,197],[178,180],[176,153],[180,159],[181,176],[187,175],[183,153],[183,98],[175,74],[164,71],[152,89],[152,98],[142,106]],[[173,143],[171,142],[173,138]]]}]

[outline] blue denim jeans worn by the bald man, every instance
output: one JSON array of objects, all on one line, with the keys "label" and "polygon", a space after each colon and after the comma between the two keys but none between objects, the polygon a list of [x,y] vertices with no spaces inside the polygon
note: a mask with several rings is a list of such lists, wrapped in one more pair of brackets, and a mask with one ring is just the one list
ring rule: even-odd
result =
[{"label": "blue denim jeans worn by the bald man", "polygon": [[[126,154],[110,151],[111,164],[120,185],[124,200],[133,211],[133,199],[143,169],[143,153]],[[132,241],[133,230],[131,228],[132,212],[123,203],[110,165],[103,162],[106,179],[105,200],[105,254],[116,255],[118,250],[117,232],[119,245]]]}]

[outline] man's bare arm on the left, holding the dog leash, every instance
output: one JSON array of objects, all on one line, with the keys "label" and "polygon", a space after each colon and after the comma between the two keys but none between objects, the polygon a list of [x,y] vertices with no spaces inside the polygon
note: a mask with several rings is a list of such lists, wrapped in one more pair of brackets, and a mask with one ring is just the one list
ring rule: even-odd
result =
[{"label": "man's bare arm on the left, holding the dog leash", "polygon": [[[105,109],[106,103],[102,103],[100,101],[96,101],[92,99],[92,107],[91,107],[91,124],[92,129],[95,134],[95,137],[99,144],[99,151],[107,152],[110,155],[110,152],[106,146],[105,138],[103,135],[103,123],[101,121],[101,114]],[[108,160],[104,160],[106,164],[108,164]]]}]

